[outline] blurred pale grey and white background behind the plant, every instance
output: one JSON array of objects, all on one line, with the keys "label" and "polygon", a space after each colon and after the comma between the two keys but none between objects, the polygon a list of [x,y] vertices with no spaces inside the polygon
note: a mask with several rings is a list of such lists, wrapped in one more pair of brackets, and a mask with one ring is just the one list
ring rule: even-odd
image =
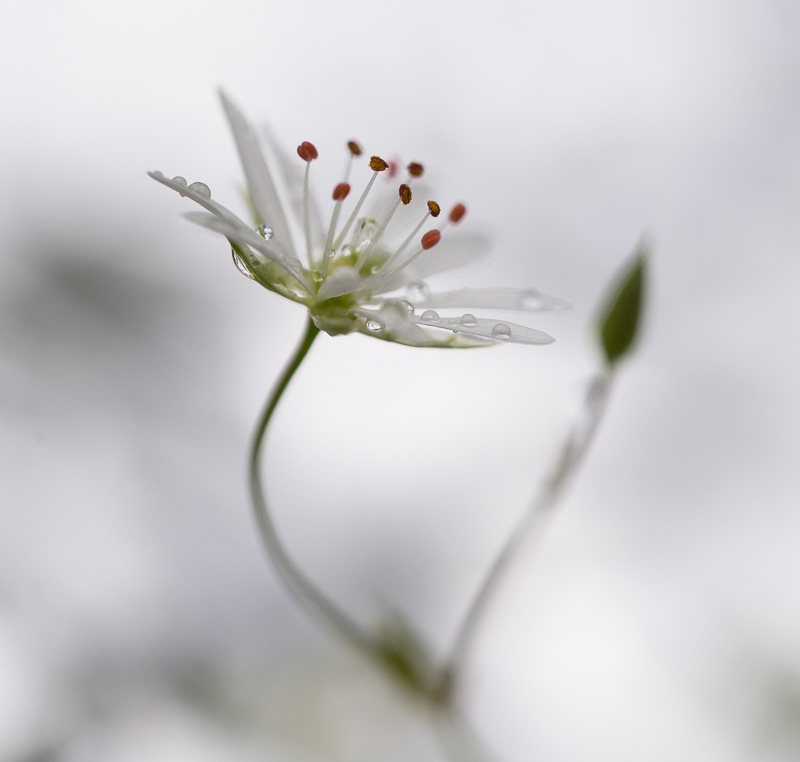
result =
[{"label": "blurred pale grey and white background behind the plant", "polygon": [[466,200],[493,255],[435,285],[574,304],[528,321],[548,347],[322,337],[266,455],[300,563],[441,652],[646,230],[640,351],[461,705],[502,760],[797,759],[799,23],[780,0],[10,0],[0,759],[445,758],[261,552],[246,448],[303,311],[145,175],[242,208],[219,86],[327,172],[356,137]]}]

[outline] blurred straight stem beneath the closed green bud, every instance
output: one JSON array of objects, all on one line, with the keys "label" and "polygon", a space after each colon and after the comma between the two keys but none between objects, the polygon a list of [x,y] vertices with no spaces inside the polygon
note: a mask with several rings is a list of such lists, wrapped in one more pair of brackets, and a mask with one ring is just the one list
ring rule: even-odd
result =
[{"label": "blurred straight stem beneath the closed green bud", "polygon": [[442,690],[450,692],[452,684],[463,668],[468,652],[475,641],[480,625],[485,621],[489,604],[494,600],[501,582],[505,579],[511,562],[519,549],[531,537],[539,537],[553,514],[558,498],[577,471],[605,411],[611,376],[600,373],[595,376],[586,392],[584,410],[577,425],[563,443],[553,470],[542,485],[530,508],[517,521],[505,544],[495,556],[486,576],[472,599],[450,650],[450,656],[441,673]]}]

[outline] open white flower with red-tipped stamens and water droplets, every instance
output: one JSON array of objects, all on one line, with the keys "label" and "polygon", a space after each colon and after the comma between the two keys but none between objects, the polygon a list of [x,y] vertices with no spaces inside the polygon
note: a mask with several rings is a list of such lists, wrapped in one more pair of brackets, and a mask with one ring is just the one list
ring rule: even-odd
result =
[{"label": "open white flower with red-tipped stamens and water droplets", "polygon": [[[466,212],[456,204],[444,223],[435,201],[421,205],[415,224],[398,236],[399,245],[389,245],[389,232],[400,227],[398,218],[412,204],[412,186],[422,175],[422,166],[408,165],[408,180],[393,191],[394,198],[376,217],[360,216],[368,198],[380,195],[373,188],[379,174],[390,169],[377,156],[369,160],[372,174],[352,208],[345,212],[350,196],[350,167],[361,156],[355,141],[347,146],[350,159],[342,181],[332,194],[330,221],[322,227],[309,193],[311,163],[317,149],[304,141],[298,146],[301,161],[291,157],[281,162],[287,200],[294,220],[287,217],[262,146],[242,113],[222,96],[225,114],[233,131],[247,177],[249,198],[258,225],[254,228],[211,198],[205,183],[187,184],[182,177],[168,179],[161,172],[150,176],[168,188],[204,207],[206,212],[186,216],[203,227],[224,235],[233,247],[239,270],[264,288],[303,304],[317,325],[331,335],[359,331],[388,341],[420,347],[471,347],[499,342],[549,344],[543,331],[504,320],[476,317],[471,312],[445,316],[438,310],[502,309],[560,310],[566,303],[534,289],[462,288],[431,292],[422,280],[430,275],[473,261],[486,249],[484,239],[459,235],[447,229],[458,224]],[[305,172],[301,167],[305,165]],[[393,173],[390,171],[389,175]],[[293,240],[293,228],[304,239],[303,259]],[[422,230],[427,226],[427,230]],[[402,232],[402,231],[401,231]],[[437,330],[438,329],[438,330]]]}]

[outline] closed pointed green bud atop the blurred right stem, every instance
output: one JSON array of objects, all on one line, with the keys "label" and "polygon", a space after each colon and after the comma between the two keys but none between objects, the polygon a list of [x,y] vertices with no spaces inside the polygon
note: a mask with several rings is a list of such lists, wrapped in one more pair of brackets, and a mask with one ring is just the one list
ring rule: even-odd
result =
[{"label": "closed pointed green bud atop the blurred right stem", "polygon": [[640,244],[600,312],[598,338],[611,368],[636,342],[644,307],[647,255],[647,246]]}]

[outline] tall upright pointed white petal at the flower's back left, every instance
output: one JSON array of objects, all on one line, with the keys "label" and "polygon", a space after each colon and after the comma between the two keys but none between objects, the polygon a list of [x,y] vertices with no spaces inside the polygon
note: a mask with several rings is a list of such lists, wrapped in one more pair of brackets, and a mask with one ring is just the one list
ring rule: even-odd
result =
[{"label": "tall upright pointed white petal at the flower's back left", "polygon": [[222,107],[225,109],[225,116],[228,118],[233,132],[233,139],[236,141],[242,169],[247,177],[250,196],[261,218],[259,222],[269,225],[276,240],[286,249],[289,256],[295,256],[286,215],[275,190],[275,183],[272,181],[267,162],[264,160],[261,146],[258,144],[258,138],[242,112],[228,96],[220,92],[220,98]]}]

